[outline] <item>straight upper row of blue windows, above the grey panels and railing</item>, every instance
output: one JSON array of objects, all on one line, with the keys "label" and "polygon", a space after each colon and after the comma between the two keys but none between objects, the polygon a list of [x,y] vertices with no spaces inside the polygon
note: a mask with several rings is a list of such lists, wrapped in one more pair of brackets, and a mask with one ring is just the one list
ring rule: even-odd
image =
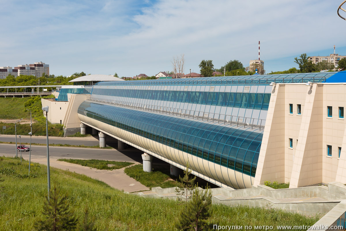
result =
[{"label": "straight upper row of blue windows, above the grey panels and railing", "polygon": [[127,90],[94,87],[95,95],[268,110],[270,94],[208,91]]}]

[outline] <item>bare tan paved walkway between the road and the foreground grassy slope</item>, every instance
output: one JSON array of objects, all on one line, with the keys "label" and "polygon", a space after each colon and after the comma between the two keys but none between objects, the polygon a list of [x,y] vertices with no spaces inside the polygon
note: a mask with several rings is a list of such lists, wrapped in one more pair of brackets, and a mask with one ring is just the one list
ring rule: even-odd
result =
[{"label": "bare tan paved walkway between the road and the foreground grassy slope", "polygon": [[[8,154],[6,156],[13,157],[14,155]],[[27,158],[25,159],[28,160]],[[124,172],[125,168],[113,170],[98,170],[95,168],[85,167],[73,163],[58,161],[57,159],[58,158],[49,158],[49,165],[54,168],[59,168],[63,170],[68,169],[71,172],[84,174],[93,179],[101,180],[109,186],[117,188],[119,190],[124,190],[125,192],[133,193],[138,191],[149,190],[148,187],[140,184],[135,179],[127,176]],[[31,161],[47,165],[47,157],[31,155]],[[138,164],[138,162],[133,163]]]}]

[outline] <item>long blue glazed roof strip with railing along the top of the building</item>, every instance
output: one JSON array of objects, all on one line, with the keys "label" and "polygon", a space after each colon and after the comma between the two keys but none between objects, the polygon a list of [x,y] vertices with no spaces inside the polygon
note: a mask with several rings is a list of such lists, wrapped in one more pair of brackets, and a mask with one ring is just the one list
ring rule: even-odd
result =
[{"label": "long blue glazed roof strip with railing along the top of the building", "polygon": [[[268,79],[229,79],[229,80],[201,80],[201,78],[198,78],[198,80],[175,80],[175,81],[140,81],[140,80],[134,80],[134,81],[116,81],[112,83],[96,83],[95,86],[122,86],[122,85],[254,85],[254,84],[270,84],[271,82],[276,83],[307,83],[310,82],[322,82],[325,81],[326,77],[302,77],[302,78],[268,78]],[[322,81],[321,81],[322,80]]]}]

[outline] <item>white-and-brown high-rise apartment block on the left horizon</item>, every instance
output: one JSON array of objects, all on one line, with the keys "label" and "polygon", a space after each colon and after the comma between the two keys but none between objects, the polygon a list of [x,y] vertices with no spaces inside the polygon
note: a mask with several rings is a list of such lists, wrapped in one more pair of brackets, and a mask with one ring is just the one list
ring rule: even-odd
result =
[{"label": "white-and-brown high-rise apartment block on the left horizon", "polygon": [[43,73],[49,75],[49,64],[45,64],[43,62],[18,65],[14,68],[11,66],[0,66],[0,79],[4,79],[10,74],[13,76],[34,75],[41,77]]}]

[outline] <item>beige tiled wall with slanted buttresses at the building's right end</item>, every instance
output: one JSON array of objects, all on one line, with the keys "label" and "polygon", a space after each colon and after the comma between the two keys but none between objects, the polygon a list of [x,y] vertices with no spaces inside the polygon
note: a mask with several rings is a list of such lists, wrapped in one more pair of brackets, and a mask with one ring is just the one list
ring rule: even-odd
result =
[{"label": "beige tiled wall with slanted buttresses at the building's right end", "polygon": [[[342,83],[276,85],[254,185],[264,184],[266,180],[290,182],[290,187],[335,180],[346,183],[345,121],[338,118],[339,107],[345,108],[345,92],[346,85]],[[293,105],[292,114],[289,104]],[[301,115],[297,114],[297,104],[301,105]],[[333,117],[327,116],[327,106],[333,107]],[[293,140],[292,148],[289,139]],[[327,145],[332,146],[331,157],[327,156]],[[344,147],[341,165],[338,165],[338,147]]]}]

